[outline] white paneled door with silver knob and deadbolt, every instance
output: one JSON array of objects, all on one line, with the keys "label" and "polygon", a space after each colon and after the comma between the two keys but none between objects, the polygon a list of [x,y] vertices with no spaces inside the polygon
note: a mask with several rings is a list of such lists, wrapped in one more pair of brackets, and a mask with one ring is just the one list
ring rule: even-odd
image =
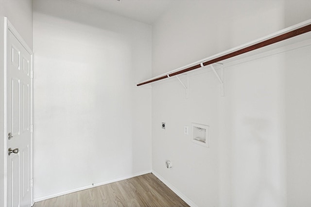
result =
[{"label": "white paneled door with silver knob and deadbolt", "polygon": [[[8,207],[31,206],[32,55],[8,32]],[[11,149],[11,153],[10,153]],[[12,152],[13,151],[13,152]]]}]

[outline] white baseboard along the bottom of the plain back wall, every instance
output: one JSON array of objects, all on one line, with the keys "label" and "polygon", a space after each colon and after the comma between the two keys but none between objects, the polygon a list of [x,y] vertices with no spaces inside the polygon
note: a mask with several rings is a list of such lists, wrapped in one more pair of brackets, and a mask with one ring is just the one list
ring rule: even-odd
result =
[{"label": "white baseboard along the bottom of the plain back wall", "polygon": [[41,196],[41,197],[38,197],[38,198],[34,198],[34,202],[47,200],[47,199],[54,198],[54,197],[57,197],[57,196],[69,194],[71,192],[82,191],[82,190],[94,188],[94,187],[97,187],[97,186],[101,186],[101,185],[105,185],[105,184],[109,184],[109,183],[114,183],[114,182],[117,182],[117,181],[125,180],[125,179],[132,178],[132,177],[136,177],[136,176],[139,176],[139,175],[145,175],[145,174],[148,174],[148,173],[151,173],[151,172],[152,172],[151,170],[150,171],[144,171],[144,172],[135,173],[135,174],[127,175],[127,176],[124,176],[124,177],[120,177],[120,178],[117,178],[117,179],[112,179],[112,180],[107,180],[107,181],[103,181],[103,182],[99,182],[99,183],[94,183],[94,185],[87,185],[87,186],[83,186],[83,187],[80,187],[80,188],[71,189],[71,190],[68,190],[68,191],[62,191],[62,192],[57,192],[57,193],[53,193],[53,194],[50,194],[50,195]]}]

